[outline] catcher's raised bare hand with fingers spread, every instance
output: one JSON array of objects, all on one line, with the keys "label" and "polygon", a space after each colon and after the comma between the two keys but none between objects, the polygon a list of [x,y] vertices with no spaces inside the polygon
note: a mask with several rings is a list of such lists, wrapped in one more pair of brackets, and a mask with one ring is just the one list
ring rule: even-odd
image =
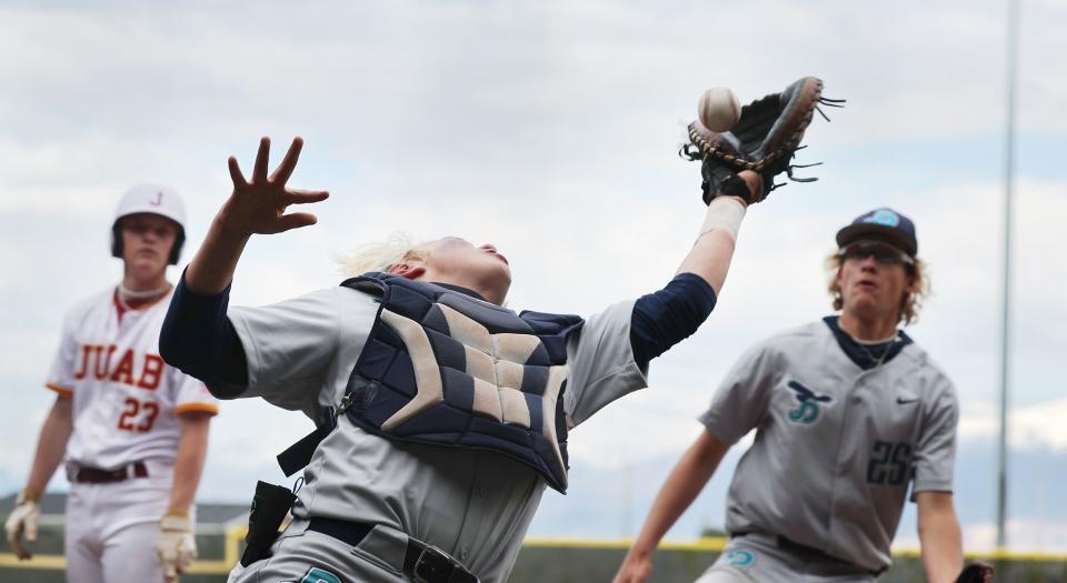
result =
[{"label": "catcher's raised bare hand with fingers spread", "polygon": [[286,214],[290,204],[306,204],[326,200],[326,191],[296,190],[286,188],[289,177],[297,168],[303,140],[295,138],[286,158],[273,173],[267,175],[270,158],[270,138],[259,140],[259,153],[251,180],[246,180],[237,158],[229,159],[230,178],[233,180],[233,193],[219,211],[219,224],[233,233],[249,235],[253,233],[280,233],[290,229],[315,224],[317,219],[307,212]]}]

